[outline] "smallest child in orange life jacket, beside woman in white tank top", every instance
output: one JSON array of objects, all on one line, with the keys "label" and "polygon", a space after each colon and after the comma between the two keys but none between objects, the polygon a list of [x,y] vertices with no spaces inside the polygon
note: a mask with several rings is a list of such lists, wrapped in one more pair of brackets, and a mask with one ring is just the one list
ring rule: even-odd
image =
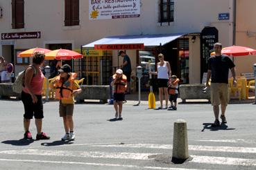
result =
[{"label": "smallest child in orange life jacket, beside woman in white tank top", "polygon": [[[168,93],[169,93],[169,100],[171,102],[171,106],[169,106],[168,110],[177,110],[177,98],[178,98],[178,87],[180,79],[177,78],[176,75],[172,75],[171,79],[169,79],[169,86],[168,86]],[[174,102],[174,105],[173,105]]]}]

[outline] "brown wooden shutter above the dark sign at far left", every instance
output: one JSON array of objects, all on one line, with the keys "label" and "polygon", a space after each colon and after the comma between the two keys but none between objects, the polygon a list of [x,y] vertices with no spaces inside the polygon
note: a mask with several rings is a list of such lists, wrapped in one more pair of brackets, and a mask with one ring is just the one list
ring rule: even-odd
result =
[{"label": "brown wooden shutter above the dark sign at far left", "polygon": [[15,8],[16,28],[24,28],[24,0],[16,0]]}]

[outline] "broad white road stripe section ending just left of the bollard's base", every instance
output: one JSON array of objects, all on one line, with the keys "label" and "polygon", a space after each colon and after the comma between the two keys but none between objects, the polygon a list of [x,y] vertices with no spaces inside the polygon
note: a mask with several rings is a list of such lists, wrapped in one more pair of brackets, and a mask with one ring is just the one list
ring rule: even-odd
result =
[{"label": "broad white road stripe section ending just left of the bollard's base", "polygon": [[39,150],[39,149],[22,149],[0,151],[0,153],[11,155],[52,155],[52,156],[72,156],[83,158],[114,158],[114,159],[129,159],[129,160],[151,160],[149,155],[154,153],[127,153],[127,152],[99,152],[99,151],[58,151],[58,150]]}]

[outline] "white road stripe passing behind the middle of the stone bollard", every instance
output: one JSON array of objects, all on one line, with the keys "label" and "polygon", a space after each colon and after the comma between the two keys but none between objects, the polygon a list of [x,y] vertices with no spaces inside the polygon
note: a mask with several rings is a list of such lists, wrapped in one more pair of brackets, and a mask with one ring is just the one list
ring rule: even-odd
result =
[{"label": "white road stripe passing behind the middle of the stone bollard", "polygon": [[[91,147],[130,147],[130,148],[150,148],[150,149],[173,149],[172,144],[107,144],[92,145]],[[253,147],[217,147],[217,146],[200,146],[189,145],[190,151],[218,151],[234,153],[256,153]]]}]

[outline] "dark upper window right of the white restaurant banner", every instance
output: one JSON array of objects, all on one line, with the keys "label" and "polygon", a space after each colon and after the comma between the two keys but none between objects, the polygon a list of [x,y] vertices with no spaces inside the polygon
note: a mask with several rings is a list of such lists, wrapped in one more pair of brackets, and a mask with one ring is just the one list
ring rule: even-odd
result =
[{"label": "dark upper window right of the white restaurant banner", "polygon": [[159,22],[173,22],[174,0],[160,0]]}]

